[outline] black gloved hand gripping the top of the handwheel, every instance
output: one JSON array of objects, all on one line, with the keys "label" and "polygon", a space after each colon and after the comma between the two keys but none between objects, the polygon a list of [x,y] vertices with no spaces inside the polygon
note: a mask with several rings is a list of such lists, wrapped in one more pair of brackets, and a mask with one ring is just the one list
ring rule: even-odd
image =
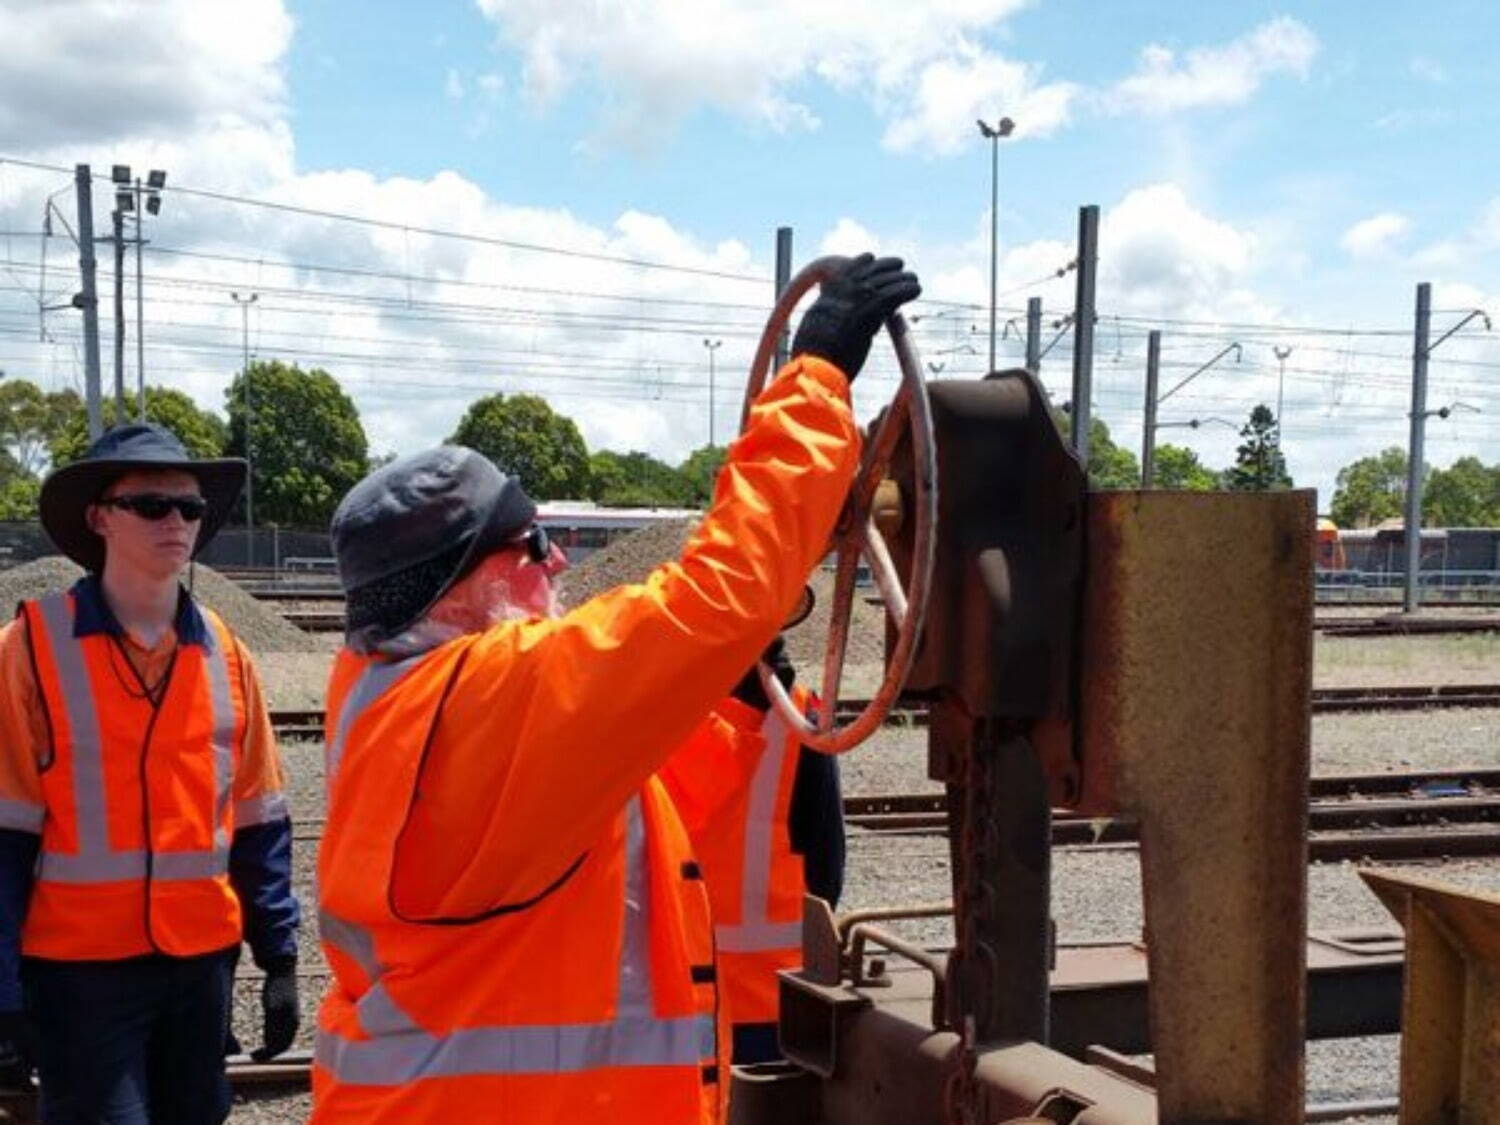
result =
[{"label": "black gloved hand gripping the top of the handwheel", "polygon": [[792,356],[819,356],[854,381],[885,318],[921,291],[916,274],[904,272],[900,258],[861,254],[824,282],[796,326]]}]

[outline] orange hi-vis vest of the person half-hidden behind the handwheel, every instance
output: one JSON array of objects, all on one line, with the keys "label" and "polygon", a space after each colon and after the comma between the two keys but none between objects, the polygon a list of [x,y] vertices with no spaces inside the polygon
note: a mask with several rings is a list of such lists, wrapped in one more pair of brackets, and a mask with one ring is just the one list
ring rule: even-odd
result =
[{"label": "orange hi-vis vest of the person half-hidden behind the handwheel", "polygon": [[[798,686],[792,702],[807,712],[813,696]],[[754,728],[754,738],[738,742],[750,753],[740,765],[747,777],[728,800],[716,801],[705,782],[734,772],[704,741],[686,746],[662,771],[708,884],[718,988],[736,1024],[776,1023],[777,974],[802,963],[807,894],[788,826],[801,740],[776,711],[758,716]]]}]

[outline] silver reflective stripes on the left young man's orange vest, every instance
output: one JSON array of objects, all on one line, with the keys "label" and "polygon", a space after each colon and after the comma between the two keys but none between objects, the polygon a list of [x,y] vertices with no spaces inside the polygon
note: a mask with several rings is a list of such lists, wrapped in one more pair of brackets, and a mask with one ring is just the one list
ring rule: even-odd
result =
[{"label": "silver reflective stripes on the left young man's orange vest", "polygon": [[204,642],[208,696],[213,706],[213,848],[190,852],[147,852],[140,848],[110,848],[108,796],[104,786],[104,740],[93,687],[84,663],[82,642],[74,636],[74,616],[66,594],[38,602],[42,627],[57,680],[62,684],[72,732],[74,816],[78,852],[44,850],[38,879],[58,884],[108,884],[150,878],[160,882],[212,879],[230,870],[230,832],[224,813],[234,783],[234,700],[230,694],[230,663],[213,628]]}]

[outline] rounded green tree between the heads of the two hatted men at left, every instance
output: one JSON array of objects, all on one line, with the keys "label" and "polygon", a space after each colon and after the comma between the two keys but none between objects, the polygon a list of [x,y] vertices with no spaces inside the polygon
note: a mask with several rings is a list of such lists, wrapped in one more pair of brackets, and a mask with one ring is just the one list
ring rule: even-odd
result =
[{"label": "rounded green tree between the heads of the two hatted men at left", "polygon": [[[369,446],[354,402],[328,372],[256,360],[250,380],[250,471],[256,522],[324,526],[344,494],[369,468]],[[244,456],[244,374],[225,402],[224,452]]]}]

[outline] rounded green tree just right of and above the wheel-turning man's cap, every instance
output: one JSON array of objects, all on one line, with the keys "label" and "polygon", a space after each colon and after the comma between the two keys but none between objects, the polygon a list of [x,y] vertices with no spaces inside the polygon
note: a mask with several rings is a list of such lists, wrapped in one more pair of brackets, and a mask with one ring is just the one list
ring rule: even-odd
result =
[{"label": "rounded green tree just right of and above the wheel-turning man's cap", "polygon": [[448,441],[476,448],[518,476],[534,500],[590,495],[584,435],[536,394],[486,394],[471,402]]}]

